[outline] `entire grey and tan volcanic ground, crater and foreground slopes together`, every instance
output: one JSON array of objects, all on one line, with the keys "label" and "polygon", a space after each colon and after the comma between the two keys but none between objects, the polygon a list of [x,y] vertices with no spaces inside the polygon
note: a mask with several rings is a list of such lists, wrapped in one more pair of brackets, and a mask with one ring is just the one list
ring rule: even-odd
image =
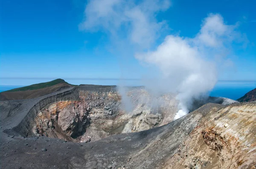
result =
[{"label": "entire grey and tan volcanic ground, crater and foreground slopes together", "polygon": [[115,86],[0,101],[1,168],[255,167],[256,102],[211,98],[219,104],[173,121],[175,95],[154,97],[142,87],[126,94],[129,112]]}]

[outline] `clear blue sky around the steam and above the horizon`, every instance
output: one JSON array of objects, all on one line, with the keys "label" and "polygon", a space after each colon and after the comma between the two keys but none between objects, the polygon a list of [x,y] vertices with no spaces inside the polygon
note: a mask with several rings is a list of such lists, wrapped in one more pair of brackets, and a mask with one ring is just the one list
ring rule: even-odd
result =
[{"label": "clear blue sky around the steam and above the horizon", "polygon": [[[82,0],[2,1],[0,85],[20,85],[20,79],[26,78],[140,79],[151,72],[132,53],[120,56],[124,51],[113,52],[115,47],[108,31],[79,28],[86,18],[87,3]],[[154,13],[156,22],[165,20],[168,28],[151,48],[162,43],[166,35],[195,37],[202,20],[210,13],[217,13],[225,23],[239,24],[237,31],[247,37],[242,45],[232,44],[232,55],[228,57],[233,66],[221,70],[218,80],[256,81],[255,6],[254,0],[171,0],[168,9]],[[125,34],[117,33],[120,37]]]}]

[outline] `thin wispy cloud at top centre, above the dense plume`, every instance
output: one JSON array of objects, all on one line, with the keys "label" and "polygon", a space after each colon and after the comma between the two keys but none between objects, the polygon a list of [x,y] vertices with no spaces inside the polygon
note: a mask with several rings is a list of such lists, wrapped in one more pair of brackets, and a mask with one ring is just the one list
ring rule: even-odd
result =
[{"label": "thin wispy cloud at top centre, above the dense plume", "polygon": [[169,0],[90,0],[79,28],[104,30],[115,39],[121,36],[141,48],[149,48],[165,25],[155,15],[170,5]]}]

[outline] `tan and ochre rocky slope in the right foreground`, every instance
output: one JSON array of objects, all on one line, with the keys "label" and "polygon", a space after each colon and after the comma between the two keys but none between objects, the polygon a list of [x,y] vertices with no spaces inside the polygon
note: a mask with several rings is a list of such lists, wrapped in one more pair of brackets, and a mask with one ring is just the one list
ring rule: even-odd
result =
[{"label": "tan and ochre rocky slope in the right foreground", "polygon": [[205,105],[203,115],[183,140],[167,168],[253,168],[256,164],[256,103],[227,107]]}]

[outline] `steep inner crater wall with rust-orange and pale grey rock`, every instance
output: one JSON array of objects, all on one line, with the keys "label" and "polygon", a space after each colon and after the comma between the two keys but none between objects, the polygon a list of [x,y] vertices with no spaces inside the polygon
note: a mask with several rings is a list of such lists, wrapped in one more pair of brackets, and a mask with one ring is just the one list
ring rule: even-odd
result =
[{"label": "steep inner crater wall with rust-orange and pale grey rock", "polygon": [[127,95],[132,104],[128,113],[121,96],[113,88],[74,88],[39,101],[14,130],[28,137],[37,135],[89,142],[167,124],[177,112],[174,96],[152,99],[147,92],[136,88],[129,90]]}]

